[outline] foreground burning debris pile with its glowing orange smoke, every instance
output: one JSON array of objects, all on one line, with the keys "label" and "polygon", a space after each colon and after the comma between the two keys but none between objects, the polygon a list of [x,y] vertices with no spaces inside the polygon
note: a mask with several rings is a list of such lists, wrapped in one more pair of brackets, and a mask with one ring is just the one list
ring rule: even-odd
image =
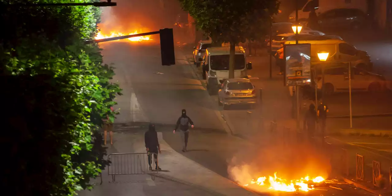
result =
[{"label": "foreground burning debris pile with its glowing orange smoke", "polygon": [[306,143],[267,138],[259,148],[238,152],[228,165],[232,180],[256,192],[309,192],[325,185],[331,169],[329,158]]}]

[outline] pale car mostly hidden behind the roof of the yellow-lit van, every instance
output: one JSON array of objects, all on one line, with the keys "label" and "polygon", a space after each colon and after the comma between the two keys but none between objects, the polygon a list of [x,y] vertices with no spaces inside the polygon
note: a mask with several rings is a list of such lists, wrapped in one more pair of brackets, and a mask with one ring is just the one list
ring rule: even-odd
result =
[{"label": "pale car mostly hidden behind the roof of the yellow-lit van", "polygon": [[[300,33],[297,36],[298,41],[305,41],[305,40],[343,40],[340,36],[337,35],[313,35],[309,33]],[[287,41],[295,41],[296,36],[295,33],[286,33],[286,34],[279,34],[274,36],[272,39],[272,53],[276,53],[276,51],[281,47],[280,45],[285,45]],[[269,46],[269,43],[267,44]]]}]

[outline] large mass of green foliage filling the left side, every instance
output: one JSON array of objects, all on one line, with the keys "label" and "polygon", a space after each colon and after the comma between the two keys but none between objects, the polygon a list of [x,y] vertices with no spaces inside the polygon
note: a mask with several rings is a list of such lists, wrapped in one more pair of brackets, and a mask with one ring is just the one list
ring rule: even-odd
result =
[{"label": "large mass of green foliage filling the left side", "polygon": [[[91,0],[0,0],[92,2]],[[3,135],[7,167],[0,177],[12,195],[73,195],[107,165],[98,132],[113,122],[121,89],[109,80],[97,44],[100,10],[93,6],[1,6],[0,74],[9,99]]]}]

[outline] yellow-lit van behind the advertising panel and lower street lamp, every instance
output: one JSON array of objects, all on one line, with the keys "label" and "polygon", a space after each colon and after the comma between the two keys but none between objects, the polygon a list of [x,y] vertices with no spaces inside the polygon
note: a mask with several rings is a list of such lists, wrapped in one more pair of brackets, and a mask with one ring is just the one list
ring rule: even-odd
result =
[{"label": "yellow-lit van behind the advertising panel and lower street lamp", "polygon": [[[285,44],[295,44],[295,41],[287,41]],[[301,40],[298,44],[309,43],[310,45],[310,59],[312,65],[324,63],[320,62],[317,53],[320,51],[327,51],[328,61],[325,62],[351,62],[353,67],[371,71],[373,63],[370,61],[370,56],[365,51],[356,49],[353,45],[348,44],[344,40]],[[324,63],[324,64],[325,64]],[[332,64],[329,64],[332,65]]]}]

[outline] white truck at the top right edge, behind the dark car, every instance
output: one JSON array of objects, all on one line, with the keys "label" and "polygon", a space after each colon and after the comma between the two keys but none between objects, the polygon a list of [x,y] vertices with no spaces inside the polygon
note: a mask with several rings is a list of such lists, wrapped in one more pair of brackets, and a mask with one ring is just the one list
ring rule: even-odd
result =
[{"label": "white truck at the top right edge, behind the dark car", "polygon": [[[308,0],[302,9],[298,9],[298,20],[306,21],[312,9],[316,9],[316,13],[319,15],[331,9],[338,8],[360,9],[364,13],[367,13],[368,3],[367,0]],[[291,22],[295,21],[295,17],[295,11],[293,11],[289,16],[289,20]]]}]

